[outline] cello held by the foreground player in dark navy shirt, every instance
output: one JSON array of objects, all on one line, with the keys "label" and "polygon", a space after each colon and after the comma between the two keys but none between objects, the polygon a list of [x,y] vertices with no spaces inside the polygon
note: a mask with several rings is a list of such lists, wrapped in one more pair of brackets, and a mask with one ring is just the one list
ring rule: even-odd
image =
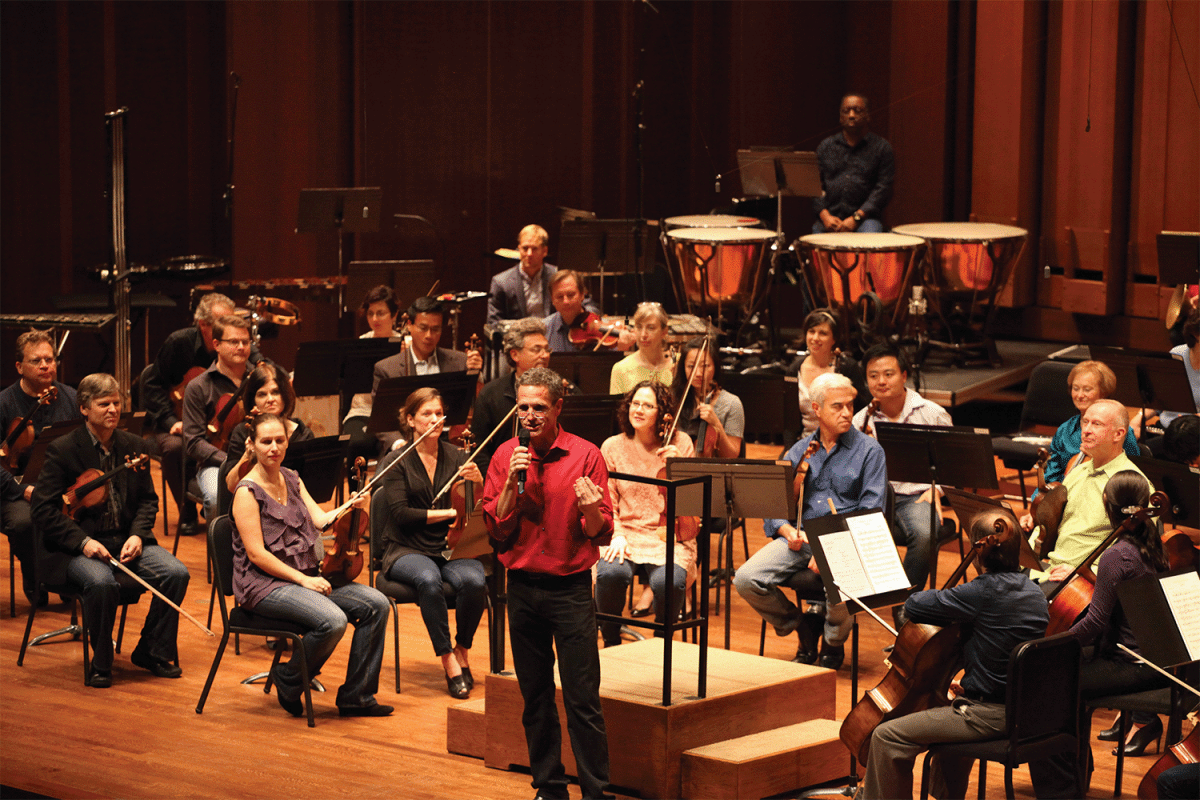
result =
[{"label": "cello held by the foreground player in dark navy shirt", "polygon": [[[977,558],[1018,535],[1013,521],[997,515],[992,533],[972,542],[971,552],[942,589],[956,584]],[[881,723],[913,711],[949,705],[948,691],[960,667],[961,650],[962,626],[959,624],[941,627],[911,620],[905,622],[886,662],[888,673],[863,696],[841,723],[839,736],[863,766],[866,766],[871,733]]]}]

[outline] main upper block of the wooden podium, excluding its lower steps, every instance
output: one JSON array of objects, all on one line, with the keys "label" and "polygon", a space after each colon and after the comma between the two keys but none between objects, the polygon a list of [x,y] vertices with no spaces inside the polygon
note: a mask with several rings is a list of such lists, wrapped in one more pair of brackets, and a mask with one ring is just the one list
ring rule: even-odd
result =
[{"label": "main upper block of the wooden podium, excluding its lower steps", "polygon": [[[661,639],[646,639],[600,651],[600,700],[613,786],[634,789],[643,798],[678,798],[684,751],[834,717],[833,670],[712,648],[708,697],[698,699],[700,648],[682,642],[673,645],[672,705],[664,706],[662,644]],[[563,764],[575,775],[560,690],[557,698]],[[516,675],[488,675],[487,766],[529,765],[521,711]]]}]

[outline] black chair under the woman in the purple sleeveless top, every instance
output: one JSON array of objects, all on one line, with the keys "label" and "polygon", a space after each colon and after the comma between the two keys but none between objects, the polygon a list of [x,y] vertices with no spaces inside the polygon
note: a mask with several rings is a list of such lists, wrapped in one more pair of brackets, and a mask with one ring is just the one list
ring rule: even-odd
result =
[{"label": "black chair under the woman in the purple sleeveless top", "polygon": [[[204,691],[200,692],[200,700],[196,704],[197,714],[204,712],[204,703],[209,699],[209,691],[212,688],[217,668],[221,667],[221,657],[229,644],[230,633],[287,639],[295,652],[302,646],[301,642],[310,631],[302,625],[260,616],[242,606],[234,606],[232,609],[228,607],[227,599],[233,597],[233,519],[228,515],[221,515],[209,523],[209,557],[212,567],[212,585],[218,589],[217,604],[221,609],[222,631],[217,652],[212,656],[212,667],[209,669],[208,680],[204,681]],[[271,693],[272,674],[283,656],[283,650],[282,646],[275,648],[275,657],[271,660],[271,667],[263,685],[263,692],[266,694]],[[312,679],[308,675],[308,663],[304,658],[298,658],[298,661],[300,662],[300,680],[304,685],[304,703],[308,711],[308,727],[314,728],[317,722],[312,711]]]}]

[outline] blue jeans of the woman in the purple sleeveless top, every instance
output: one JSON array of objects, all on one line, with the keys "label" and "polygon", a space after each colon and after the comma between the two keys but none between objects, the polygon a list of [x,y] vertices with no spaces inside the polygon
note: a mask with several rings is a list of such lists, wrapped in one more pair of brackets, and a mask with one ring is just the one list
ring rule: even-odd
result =
[{"label": "blue jeans of the woman in the purple sleeveless top", "polygon": [[388,599],[376,589],[350,583],[334,589],[330,596],[289,583],[258,601],[253,610],[263,616],[296,622],[310,628],[304,646],[281,663],[274,675],[276,691],[287,700],[299,700],[300,662],[308,664],[308,676],[314,678],[325,666],[334,648],[346,633],[346,624],[354,625],[350,657],[346,664],[346,682],[337,690],[338,708],[374,705],[379,691],[379,667],[383,663],[384,634],[388,632]]}]

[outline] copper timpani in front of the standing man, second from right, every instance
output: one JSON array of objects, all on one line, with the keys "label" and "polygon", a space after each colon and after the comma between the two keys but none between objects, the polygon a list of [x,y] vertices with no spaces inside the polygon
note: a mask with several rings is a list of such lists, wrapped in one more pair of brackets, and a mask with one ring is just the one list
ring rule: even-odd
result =
[{"label": "copper timpani in front of the standing man, second from right", "polygon": [[[898,302],[917,265],[917,255],[925,246],[918,236],[889,234],[809,234],[800,236],[800,246],[809,253],[811,283],[821,301],[841,309],[842,318],[851,308],[862,306],[858,319],[866,329],[877,330],[883,319],[896,324],[904,303]],[[844,326],[844,330],[848,326]],[[844,343],[850,331],[845,330]]]}]

